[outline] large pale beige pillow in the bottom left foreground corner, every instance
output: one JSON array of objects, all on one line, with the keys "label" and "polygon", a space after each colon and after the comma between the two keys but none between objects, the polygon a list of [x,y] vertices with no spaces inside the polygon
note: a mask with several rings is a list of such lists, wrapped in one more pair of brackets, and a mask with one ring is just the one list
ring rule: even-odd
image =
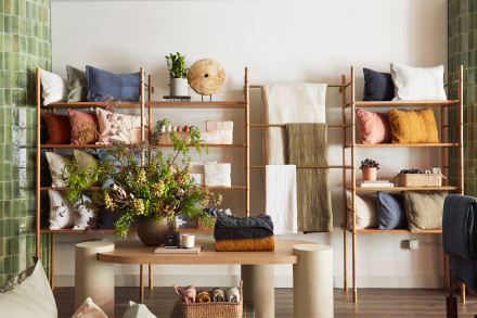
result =
[{"label": "large pale beige pillow in the bottom left foreground corner", "polygon": [[56,303],[40,259],[0,289],[0,317],[57,317]]}]

